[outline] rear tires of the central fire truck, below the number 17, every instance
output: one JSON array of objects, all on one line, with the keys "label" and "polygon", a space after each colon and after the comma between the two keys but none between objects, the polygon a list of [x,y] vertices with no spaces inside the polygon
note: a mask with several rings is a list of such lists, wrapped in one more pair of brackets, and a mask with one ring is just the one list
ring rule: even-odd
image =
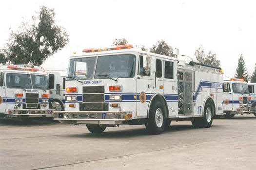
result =
[{"label": "rear tires of the central fire truck, below the number 17", "polygon": [[196,128],[209,128],[212,126],[214,109],[210,102],[204,105],[203,117],[192,119],[192,125]]}]

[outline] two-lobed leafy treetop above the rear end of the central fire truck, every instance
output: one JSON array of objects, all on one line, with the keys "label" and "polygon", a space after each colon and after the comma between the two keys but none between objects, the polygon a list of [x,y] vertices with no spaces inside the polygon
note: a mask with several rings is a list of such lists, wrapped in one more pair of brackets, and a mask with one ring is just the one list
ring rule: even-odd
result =
[{"label": "two-lobed leafy treetop above the rear end of the central fire truck", "polygon": [[217,59],[217,54],[209,51],[208,54],[205,56],[202,46],[199,46],[198,49],[195,51],[195,56],[198,63],[215,67],[220,66],[220,61]]}]

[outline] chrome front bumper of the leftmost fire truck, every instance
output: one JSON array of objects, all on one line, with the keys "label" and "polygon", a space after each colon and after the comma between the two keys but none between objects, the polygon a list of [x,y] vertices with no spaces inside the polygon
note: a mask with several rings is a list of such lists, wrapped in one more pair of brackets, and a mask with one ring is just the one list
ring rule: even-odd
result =
[{"label": "chrome front bumper of the leftmost fire truck", "polygon": [[9,118],[53,117],[52,109],[9,109],[5,114]]}]

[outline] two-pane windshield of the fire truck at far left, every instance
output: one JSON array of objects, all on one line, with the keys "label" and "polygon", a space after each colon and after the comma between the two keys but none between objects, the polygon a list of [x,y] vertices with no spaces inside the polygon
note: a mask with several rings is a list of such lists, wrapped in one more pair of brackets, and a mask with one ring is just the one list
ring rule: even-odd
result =
[{"label": "two-pane windshield of the fire truck at far left", "polygon": [[47,76],[43,75],[8,73],[6,82],[8,88],[48,89]]}]

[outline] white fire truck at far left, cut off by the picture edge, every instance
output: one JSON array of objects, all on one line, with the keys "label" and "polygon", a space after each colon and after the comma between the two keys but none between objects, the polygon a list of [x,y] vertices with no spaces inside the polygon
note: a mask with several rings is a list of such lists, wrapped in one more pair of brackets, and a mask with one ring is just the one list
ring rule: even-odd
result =
[{"label": "white fire truck at far left, cut off by the picture edge", "polygon": [[53,117],[47,74],[34,66],[0,66],[0,118],[37,117]]}]

